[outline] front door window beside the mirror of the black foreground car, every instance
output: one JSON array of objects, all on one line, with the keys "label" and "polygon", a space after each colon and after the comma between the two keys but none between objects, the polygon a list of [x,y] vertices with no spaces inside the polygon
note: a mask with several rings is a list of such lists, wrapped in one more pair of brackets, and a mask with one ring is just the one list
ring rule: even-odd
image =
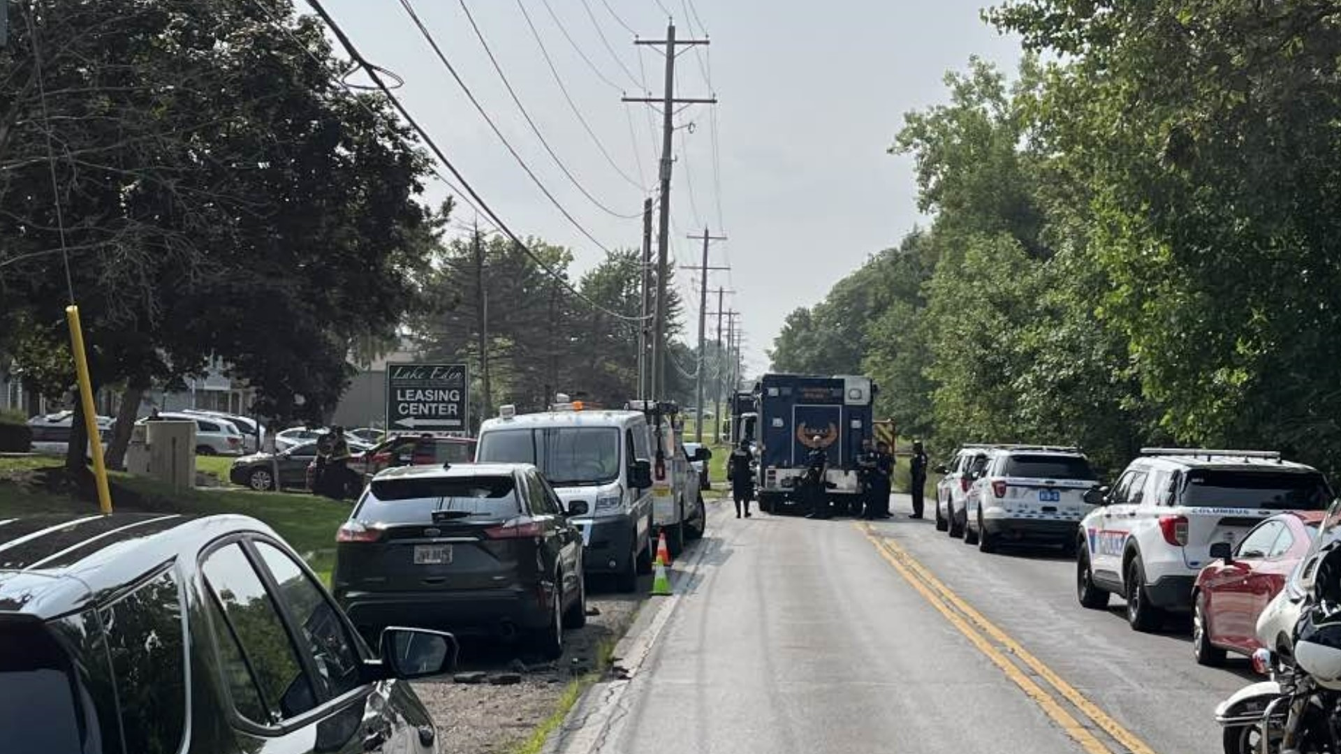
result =
[{"label": "front door window beside the mirror of the black foreground car", "polygon": [[316,667],[315,680],[322,695],[329,699],[358,688],[358,651],[335,605],[283,550],[270,542],[256,542],[256,551],[279,584],[284,605],[307,640],[304,649]]}]

